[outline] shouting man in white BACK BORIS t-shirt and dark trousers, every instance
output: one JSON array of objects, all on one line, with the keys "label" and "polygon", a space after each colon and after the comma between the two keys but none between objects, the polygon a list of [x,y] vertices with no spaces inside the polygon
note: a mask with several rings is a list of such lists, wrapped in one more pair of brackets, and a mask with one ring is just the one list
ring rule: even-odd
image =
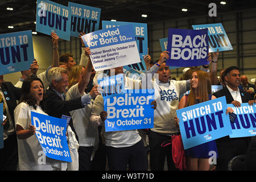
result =
[{"label": "shouting man in white BACK BORIS t-shirt and dark trousers", "polygon": [[154,128],[149,132],[150,167],[152,171],[163,171],[167,157],[168,170],[176,170],[172,160],[172,145],[161,147],[163,142],[171,140],[171,135],[179,134],[179,128],[174,124],[174,117],[179,105],[181,94],[190,89],[190,80],[170,80],[170,68],[160,65],[154,81],[156,109],[154,113]]}]

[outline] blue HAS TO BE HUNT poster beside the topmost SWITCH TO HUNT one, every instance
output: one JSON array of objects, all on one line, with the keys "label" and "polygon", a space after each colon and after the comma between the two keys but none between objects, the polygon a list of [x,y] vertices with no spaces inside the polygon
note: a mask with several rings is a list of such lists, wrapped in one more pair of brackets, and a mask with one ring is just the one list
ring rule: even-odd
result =
[{"label": "blue HAS TO BE HUNT poster beside the topmost SWITCH TO HUNT one", "polygon": [[68,2],[71,8],[71,36],[79,37],[80,32],[94,32],[100,25],[101,9]]}]

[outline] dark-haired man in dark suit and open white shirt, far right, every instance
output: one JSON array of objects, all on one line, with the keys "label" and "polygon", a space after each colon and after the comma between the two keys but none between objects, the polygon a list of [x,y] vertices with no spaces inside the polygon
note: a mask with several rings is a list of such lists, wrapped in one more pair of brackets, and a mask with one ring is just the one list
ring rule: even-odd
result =
[{"label": "dark-haired man in dark suit and open white shirt, far right", "polygon": [[[240,70],[237,67],[229,67],[224,71],[224,78],[226,87],[213,93],[216,97],[226,97],[227,104],[233,104],[236,107],[240,107],[241,103],[249,102],[253,104],[253,100],[249,93],[243,89],[238,88],[241,84]],[[228,170],[229,161],[237,155],[245,155],[247,146],[250,142],[249,137],[243,138],[229,138],[224,137],[216,140],[218,159],[217,170]]]}]

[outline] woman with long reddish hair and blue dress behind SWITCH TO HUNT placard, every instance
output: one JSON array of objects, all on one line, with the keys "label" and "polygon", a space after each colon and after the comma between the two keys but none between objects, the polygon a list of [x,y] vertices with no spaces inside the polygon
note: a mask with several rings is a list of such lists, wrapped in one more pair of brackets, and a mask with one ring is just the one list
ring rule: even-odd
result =
[{"label": "woman with long reddish hair and blue dress behind SWITCH TO HUNT placard", "polygon": [[[209,101],[216,98],[211,94],[211,82],[209,75],[201,70],[194,71],[191,78],[191,91],[188,95],[181,98],[179,109],[192,106],[201,102]],[[231,107],[228,107],[226,114],[233,112]],[[179,119],[175,117],[177,125]],[[218,158],[217,146],[215,140],[200,144],[185,150],[186,167],[188,171],[208,171],[210,168],[209,151],[215,151]]]}]

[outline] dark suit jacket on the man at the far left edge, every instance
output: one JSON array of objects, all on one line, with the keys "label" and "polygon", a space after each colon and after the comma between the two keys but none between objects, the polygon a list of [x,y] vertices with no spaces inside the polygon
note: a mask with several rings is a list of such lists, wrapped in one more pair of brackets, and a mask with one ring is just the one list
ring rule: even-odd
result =
[{"label": "dark suit jacket on the man at the far left edge", "polygon": [[11,116],[11,120],[13,121],[13,126],[15,126],[14,122],[14,109],[17,106],[17,100],[19,101],[21,96],[21,89],[15,87],[11,82],[5,81],[1,86],[3,95],[6,100],[6,104]]}]

